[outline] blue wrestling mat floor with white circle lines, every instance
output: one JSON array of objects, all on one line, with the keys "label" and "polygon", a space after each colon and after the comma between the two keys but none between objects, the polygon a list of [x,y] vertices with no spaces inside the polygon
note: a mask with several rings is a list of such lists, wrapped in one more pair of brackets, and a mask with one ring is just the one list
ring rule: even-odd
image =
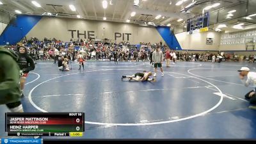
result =
[{"label": "blue wrestling mat floor with white circle lines", "polygon": [[[248,109],[237,70],[249,63],[180,62],[157,73],[156,83],[121,81],[153,70],[149,62],[72,63],[70,72],[39,62],[22,99],[26,112],[84,112],[83,138],[256,138],[256,111]],[[0,106],[4,120],[5,106]],[[0,137],[4,123],[0,124]]]}]

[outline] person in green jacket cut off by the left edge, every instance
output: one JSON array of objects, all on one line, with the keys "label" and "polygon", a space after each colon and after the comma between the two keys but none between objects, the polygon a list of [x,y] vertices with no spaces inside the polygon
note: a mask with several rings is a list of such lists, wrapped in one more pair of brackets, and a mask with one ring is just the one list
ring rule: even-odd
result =
[{"label": "person in green jacket cut off by the left edge", "polygon": [[0,47],[0,104],[12,112],[24,112],[20,102],[20,68],[15,53]]}]

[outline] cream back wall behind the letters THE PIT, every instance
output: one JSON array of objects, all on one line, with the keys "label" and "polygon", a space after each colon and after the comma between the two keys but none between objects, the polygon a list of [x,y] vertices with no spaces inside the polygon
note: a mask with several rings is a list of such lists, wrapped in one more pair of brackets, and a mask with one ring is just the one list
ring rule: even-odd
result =
[{"label": "cream back wall behind the letters THE PIT", "polygon": [[[103,29],[105,28],[105,29]],[[29,31],[27,38],[35,36],[42,40],[46,38],[56,38],[69,42],[71,38],[71,32],[68,29],[79,30],[79,33],[84,31],[95,31],[95,38],[108,38],[115,42],[115,33],[131,33],[129,36],[129,42],[131,44],[139,44],[140,42],[156,43],[163,40],[161,35],[154,27],[143,27],[138,24],[127,24],[118,22],[105,22],[95,20],[80,20],[80,19],[64,19],[64,18],[52,18],[43,17],[36,26]],[[84,36],[80,38],[84,39]],[[88,36],[86,35],[86,38]],[[77,39],[77,32],[74,33],[74,38]],[[122,38],[117,38],[116,42],[123,41]],[[125,35],[125,41],[127,36]]]}]

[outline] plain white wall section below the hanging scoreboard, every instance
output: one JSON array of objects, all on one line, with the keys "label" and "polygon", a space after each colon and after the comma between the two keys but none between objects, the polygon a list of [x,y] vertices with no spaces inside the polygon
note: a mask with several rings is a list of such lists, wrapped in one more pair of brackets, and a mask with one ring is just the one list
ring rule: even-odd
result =
[{"label": "plain white wall section below the hanging scoreboard", "polygon": [[[216,31],[207,31],[187,35],[186,32],[175,35],[180,47],[188,50],[218,51],[220,47],[220,33]],[[207,45],[206,38],[213,38],[213,44]]]}]

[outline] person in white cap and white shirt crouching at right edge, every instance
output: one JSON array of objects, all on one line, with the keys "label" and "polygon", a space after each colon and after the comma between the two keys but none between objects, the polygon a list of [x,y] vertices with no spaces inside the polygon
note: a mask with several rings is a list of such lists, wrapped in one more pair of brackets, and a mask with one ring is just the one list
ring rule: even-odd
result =
[{"label": "person in white cap and white shirt crouching at right edge", "polygon": [[[247,87],[249,84],[253,84],[253,86],[256,87],[256,72],[250,72],[250,68],[248,67],[242,67],[240,70],[238,70],[239,77],[244,83],[244,85]],[[245,80],[244,77],[247,77]],[[244,96],[246,100],[249,100],[250,104],[256,104],[256,94],[255,94],[256,88]],[[256,109],[256,106],[250,106],[249,108]]]}]

